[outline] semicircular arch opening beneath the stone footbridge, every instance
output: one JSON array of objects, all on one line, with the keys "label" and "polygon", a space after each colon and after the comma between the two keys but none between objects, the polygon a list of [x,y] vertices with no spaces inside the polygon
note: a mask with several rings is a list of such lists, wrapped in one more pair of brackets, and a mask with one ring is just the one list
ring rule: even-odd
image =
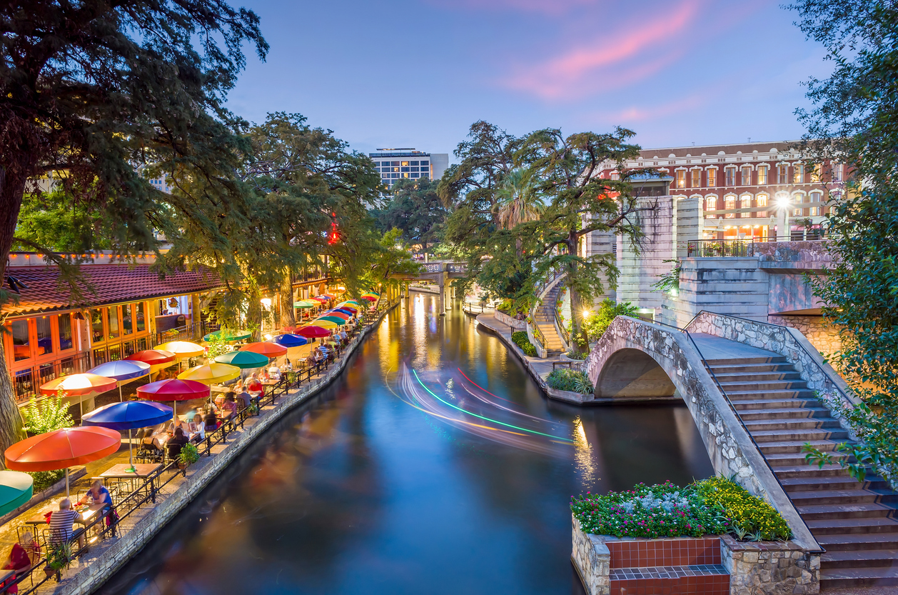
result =
[{"label": "semicircular arch opening beneath the stone footbridge", "polygon": [[670,398],[676,386],[652,356],[637,349],[615,351],[595,382],[599,398]]}]

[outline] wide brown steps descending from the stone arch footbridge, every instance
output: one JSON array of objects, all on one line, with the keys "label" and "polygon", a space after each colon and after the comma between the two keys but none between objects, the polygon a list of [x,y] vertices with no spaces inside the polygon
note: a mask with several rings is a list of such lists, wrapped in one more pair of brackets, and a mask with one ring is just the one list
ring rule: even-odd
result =
[{"label": "wide brown steps descending from the stone arch footbridge", "polygon": [[841,466],[808,465],[801,452],[806,442],[832,452],[840,442],[850,441],[848,433],[785,357],[749,349],[757,357],[702,351],[798,513],[826,550],[821,589],[898,586],[898,493],[876,475],[867,475],[860,484]]}]

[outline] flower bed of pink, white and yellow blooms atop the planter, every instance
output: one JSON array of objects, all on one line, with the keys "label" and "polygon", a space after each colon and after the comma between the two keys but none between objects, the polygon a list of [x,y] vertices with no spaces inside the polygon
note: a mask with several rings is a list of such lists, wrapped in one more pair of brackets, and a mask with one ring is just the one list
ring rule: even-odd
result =
[{"label": "flower bed of pink, white and yellow blooms atop the planter", "polygon": [[572,496],[570,509],[583,530],[615,537],[702,537],[733,533],[739,539],[784,540],[786,521],[770,504],[723,477],[685,487],[638,484],[627,492]]}]

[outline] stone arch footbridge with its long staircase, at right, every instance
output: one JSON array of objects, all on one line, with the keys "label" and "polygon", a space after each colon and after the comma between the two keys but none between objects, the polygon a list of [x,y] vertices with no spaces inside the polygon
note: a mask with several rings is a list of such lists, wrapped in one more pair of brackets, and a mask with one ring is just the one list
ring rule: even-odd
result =
[{"label": "stone arch footbridge with its long staircase, at right", "polygon": [[857,400],[797,329],[707,311],[683,328],[618,316],[584,369],[585,404],[682,399],[715,471],[780,512],[819,559],[821,587],[898,584],[898,493],[872,471],[858,483],[805,460],[806,443],[844,457],[834,448],[853,432],[837,412]]}]

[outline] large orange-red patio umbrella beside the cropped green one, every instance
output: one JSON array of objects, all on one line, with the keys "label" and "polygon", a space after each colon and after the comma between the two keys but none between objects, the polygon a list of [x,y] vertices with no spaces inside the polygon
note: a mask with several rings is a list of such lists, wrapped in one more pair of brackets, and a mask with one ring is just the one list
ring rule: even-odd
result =
[{"label": "large orange-red patio umbrella beside the cropped green one", "polygon": [[55,471],[66,469],[66,498],[68,467],[84,465],[107,457],[119,449],[121,434],[106,428],[63,428],[48,431],[16,442],[6,448],[6,467],[13,471]]}]

